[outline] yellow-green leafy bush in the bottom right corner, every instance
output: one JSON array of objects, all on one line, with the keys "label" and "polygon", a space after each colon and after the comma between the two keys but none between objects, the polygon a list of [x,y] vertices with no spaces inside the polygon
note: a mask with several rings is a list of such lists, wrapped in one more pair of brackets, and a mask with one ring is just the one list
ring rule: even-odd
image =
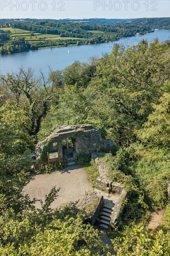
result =
[{"label": "yellow-green leafy bush in the bottom right corner", "polygon": [[117,237],[112,243],[117,256],[168,256],[169,237],[170,232],[164,233],[163,230],[148,232],[144,227],[134,226],[126,236]]}]

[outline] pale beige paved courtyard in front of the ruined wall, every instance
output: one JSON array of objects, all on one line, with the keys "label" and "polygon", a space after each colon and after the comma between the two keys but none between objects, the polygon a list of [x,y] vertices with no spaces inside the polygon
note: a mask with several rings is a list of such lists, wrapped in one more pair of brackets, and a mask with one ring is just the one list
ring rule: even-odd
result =
[{"label": "pale beige paved courtyard in front of the ruined wall", "polygon": [[[51,174],[39,174],[33,176],[32,180],[23,190],[24,194],[28,194],[30,199],[34,197],[45,200],[52,187],[61,188],[59,196],[51,207],[53,209],[60,207],[67,202],[76,202],[82,200],[85,191],[93,190],[91,183],[87,180],[87,174],[83,168],[78,165],[67,166],[61,171]],[[40,208],[40,203],[36,202],[36,207]]]}]

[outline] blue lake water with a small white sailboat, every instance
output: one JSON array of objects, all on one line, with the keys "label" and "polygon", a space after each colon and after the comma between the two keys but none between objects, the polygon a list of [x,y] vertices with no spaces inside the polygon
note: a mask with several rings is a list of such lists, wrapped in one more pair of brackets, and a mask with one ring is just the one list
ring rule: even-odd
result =
[{"label": "blue lake water with a small white sailboat", "polygon": [[[120,40],[101,43],[95,45],[80,45],[72,47],[55,47],[46,48],[34,51],[28,51],[17,54],[0,55],[0,73],[18,72],[19,67],[34,68],[35,75],[39,75],[39,70],[42,69],[45,75],[48,75],[49,67],[53,70],[63,69],[71,65],[75,60],[88,61],[92,56],[101,57],[104,53],[110,53],[114,44],[137,45],[141,40],[147,39],[152,42],[155,38],[159,42],[170,39],[170,31],[156,30],[154,33],[149,33],[143,36],[132,36],[122,38]],[[68,53],[68,50],[70,53]]]}]

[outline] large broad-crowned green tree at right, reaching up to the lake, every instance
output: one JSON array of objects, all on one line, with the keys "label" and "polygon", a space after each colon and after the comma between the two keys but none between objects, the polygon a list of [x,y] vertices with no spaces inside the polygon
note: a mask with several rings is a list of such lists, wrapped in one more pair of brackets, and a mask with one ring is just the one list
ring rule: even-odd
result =
[{"label": "large broad-crowned green tree at right, reaching up to the lake", "polygon": [[164,83],[169,79],[168,49],[168,44],[157,41],[150,47],[144,41],[126,51],[115,45],[110,55],[98,61],[86,90],[92,106],[89,117],[95,117],[96,122],[102,119],[119,144],[136,141],[135,130],[141,128],[152,103],[157,103],[163,94]]}]

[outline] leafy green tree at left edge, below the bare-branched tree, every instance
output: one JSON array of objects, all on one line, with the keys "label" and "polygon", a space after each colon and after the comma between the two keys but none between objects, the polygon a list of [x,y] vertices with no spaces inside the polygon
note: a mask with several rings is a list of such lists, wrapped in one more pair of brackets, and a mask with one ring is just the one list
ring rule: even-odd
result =
[{"label": "leafy green tree at left edge, below the bare-branched tree", "polygon": [[4,156],[23,154],[34,148],[33,138],[28,130],[31,128],[31,119],[26,110],[17,106],[13,101],[7,101],[0,108],[0,153]]}]

